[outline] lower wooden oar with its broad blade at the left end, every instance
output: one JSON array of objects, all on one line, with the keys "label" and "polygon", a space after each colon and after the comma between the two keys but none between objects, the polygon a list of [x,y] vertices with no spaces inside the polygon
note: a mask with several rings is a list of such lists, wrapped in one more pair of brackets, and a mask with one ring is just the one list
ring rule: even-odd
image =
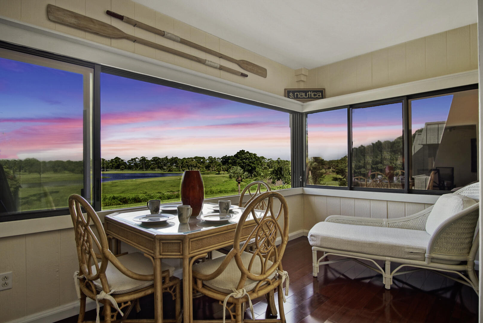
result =
[{"label": "lower wooden oar with its broad blade at the left end", "polygon": [[111,38],[123,38],[123,39],[128,39],[132,42],[136,42],[139,44],[143,44],[149,47],[153,47],[159,50],[162,50],[164,52],[168,52],[174,55],[178,55],[181,57],[184,57],[185,59],[191,59],[196,62],[199,62],[201,64],[205,64],[207,66],[213,67],[218,70],[226,71],[228,73],[233,73],[235,75],[240,75],[247,77],[248,75],[245,73],[241,73],[240,71],[231,69],[227,66],[220,65],[218,63],[212,62],[211,60],[208,59],[202,59],[190,54],[186,54],[184,52],[181,52],[179,50],[166,47],[160,44],[156,44],[153,42],[150,42],[148,40],[142,39],[135,37],[133,35],[129,35],[122,31],[121,29],[115,28],[114,26],[111,26],[109,24],[106,24],[105,22],[99,21],[94,18],[87,17],[85,15],[80,15],[77,13],[74,13],[73,11],[63,9],[60,7],[57,7],[53,4],[48,4],[47,5],[47,15],[50,20],[57,22],[59,24],[67,25],[73,28],[81,29],[84,31],[92,32],[101,36],[105,37],[111,37]]}]

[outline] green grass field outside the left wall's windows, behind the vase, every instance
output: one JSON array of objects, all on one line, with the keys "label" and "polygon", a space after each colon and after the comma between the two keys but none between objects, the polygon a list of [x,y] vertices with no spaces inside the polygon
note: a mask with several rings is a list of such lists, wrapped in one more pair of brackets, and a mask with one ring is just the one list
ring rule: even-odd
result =
[{"label": "green grass field outside the left wall's windows, behind the vase", "polygon": [[[151,173],[151,171],[149,171]],[[117,172],[102,172],[103,177]],[[123,173],[139,173],[123,171]],[[153,172],[162,173],[162,172]],[[114,180],[102,183],[102,209],[144,206],[146,201],[159,199],[161,203],[179,202],[180,176]],[[238,184],[227,174],[202,174],[205,198],[236,195]],[[73,193],[80,194],[83,187],[82,174],[44,173],[17,174],[22,187],[18,191],[20,211],[43,210],[67,207],[67,200]],[[241,182],[241,190],[251,182]]]}]

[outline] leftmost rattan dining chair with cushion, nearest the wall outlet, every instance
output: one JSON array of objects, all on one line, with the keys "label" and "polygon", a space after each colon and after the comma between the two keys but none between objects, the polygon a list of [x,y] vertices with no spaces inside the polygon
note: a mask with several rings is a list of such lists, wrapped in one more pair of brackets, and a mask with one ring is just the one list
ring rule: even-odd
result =
[{"label": "leftmost rattan dining chair with cushion, nearest the wall outlet", "polygon": [[[81,206],[86,212],[85,215]],[[140,252],[114,256],[109,250],[108,239],[99,216],[82,196],[73,194],[69,197],[69,210],[79,258],[79,271],[74,273],[80,299],[78,322],[90,322],[84,319],[86,297],[97,303],[98,323],[99,302],[104,304],[102,322],[154,322],[154,319],[126,319],[134,306],[139,312],[140,297],[154,293],[154,260]],[[97,230],[98,237],[91,225]],[[169,292],[175,300],[175,318],[165,319],[163,322],[180,322],[180,280],[172,276],[174,267],[166,264],[162,264],[162,267],[168,268],[162,272],[162,292]],[[123,308],[126,308],[124,313]],[[118,312],[122,315],[121,319],[116,319]]]}]

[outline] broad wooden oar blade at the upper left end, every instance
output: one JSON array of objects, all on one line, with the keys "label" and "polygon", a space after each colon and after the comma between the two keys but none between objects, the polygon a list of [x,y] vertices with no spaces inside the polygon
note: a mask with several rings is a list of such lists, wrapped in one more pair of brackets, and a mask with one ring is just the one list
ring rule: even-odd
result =
[{"label": "broad wooden oar blade at the upper left end", "polygon": [[57,22],[62,25],[67,25],[73,28],[82,29],[84,31],[92,32],[97,35],[111,37],[111,38],[124,38],[126,33],[121,29],[117,29],[103,21],[87,17],[75,13],[73,11],[57,7],[53,4],[47,5],[47,16],[49,20]]}]

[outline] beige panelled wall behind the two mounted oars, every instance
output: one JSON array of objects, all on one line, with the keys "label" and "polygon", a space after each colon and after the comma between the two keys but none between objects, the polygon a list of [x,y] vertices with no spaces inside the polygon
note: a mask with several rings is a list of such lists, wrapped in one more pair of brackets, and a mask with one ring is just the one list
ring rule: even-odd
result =
[{"label": "beige panelled wall behind the two mounted oars", "polygon": [[[219,59],[184,44],[179,44],[151,32],[135,28],[105,13],[106,10],[112,10],[121,15],[126,15],[150,26],[168,31],[181,38],[203,45],[235,59],[245,59],[265,67],[267,69],[267,78],[248,72],[248,77],[234,75],[142,44],[136,44],[125,39],[102,37],[54,23],[47,18],[46,7],[48,3],[101,20],[127,32],[128,34],[245,72],[238,65],[228,62],[227,60]],[[270,59],[266,59],[239,46],[228,43],[223,39],[191,27],[190,25],[173,19],[170,16],[163,15],[131,0],[0,0],[0,15],[43,28],[55,29],[89,41],[105,44],[149,58],[159,59],[173,65],[281,96],[284,96],[284,88],[297,87],[293,69]],[[53,51],[55,51],[55,49],[53,49]]]}]

